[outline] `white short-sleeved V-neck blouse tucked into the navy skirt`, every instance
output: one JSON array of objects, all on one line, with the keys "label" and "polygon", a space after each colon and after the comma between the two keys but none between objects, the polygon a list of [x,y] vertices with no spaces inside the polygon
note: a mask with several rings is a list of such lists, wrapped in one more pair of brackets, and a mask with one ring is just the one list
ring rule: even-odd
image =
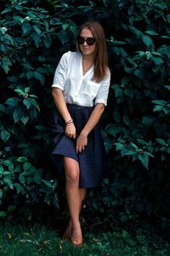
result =
[{"label": "white short-sleeved V-neck blouse tucked into the navy skirt", "polygon": [[68,51],[62,55],[54,73],[53,88],[63,90],[66,103],[93,107],[97,103],[107,105],[111,73],[99,83],[92,81],[94,66],[83,75],[81,52]]}]

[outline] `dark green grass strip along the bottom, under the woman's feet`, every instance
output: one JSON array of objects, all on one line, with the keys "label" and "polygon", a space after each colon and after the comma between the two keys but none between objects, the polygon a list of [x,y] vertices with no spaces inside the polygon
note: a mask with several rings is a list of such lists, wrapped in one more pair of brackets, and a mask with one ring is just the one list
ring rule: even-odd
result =
[{"label": "dark green grass strip along the bottom, under the woman's feet", "polygon": [[[133,231],[132,231],[133,230]],[[0,225],[1,256],[169,256],[170,242],[155,234],[149,225],[111,228],[104,232],[85,227],[83,247],[62,241],[59,230],[44,224]]]}]

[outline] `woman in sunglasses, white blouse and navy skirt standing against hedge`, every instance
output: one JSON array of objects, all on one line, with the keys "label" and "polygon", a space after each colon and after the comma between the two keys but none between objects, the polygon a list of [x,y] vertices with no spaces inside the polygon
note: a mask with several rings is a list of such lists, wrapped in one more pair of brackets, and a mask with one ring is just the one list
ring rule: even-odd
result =
[{"label": "woman in sunglasses, white blouse and navy skirt standing against hedge", "polygon": [[64,238],[82,245],[79,216],[86,189],[99,187],[107,177],[105,147],[97,125],[104,112],[111,73],[105,34],[97,21],[84,23],[77,35],[77,51],[62,55],[54,74],[52,95],[53,158],[65,170],[70,222]]}]

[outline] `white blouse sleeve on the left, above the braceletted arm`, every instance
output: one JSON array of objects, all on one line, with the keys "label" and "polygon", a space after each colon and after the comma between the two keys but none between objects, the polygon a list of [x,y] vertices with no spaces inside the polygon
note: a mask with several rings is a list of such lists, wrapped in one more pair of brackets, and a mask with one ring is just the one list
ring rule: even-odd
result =
[{"label": "white blouse sleeve on the left, above the braceletted arm", "polygon": [[70,56],[70,51],[66,52],[61,56],[59,64],[54,73],[54,81],[52,84],[52,88],[59,88],[61,90],[65,89],[65,80],[66,73],[68,68],[68,58]]}]

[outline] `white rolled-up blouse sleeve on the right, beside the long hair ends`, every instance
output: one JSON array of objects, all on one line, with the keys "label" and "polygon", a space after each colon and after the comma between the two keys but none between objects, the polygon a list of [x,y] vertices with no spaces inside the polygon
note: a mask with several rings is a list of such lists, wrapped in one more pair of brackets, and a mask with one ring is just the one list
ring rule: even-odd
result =
[{"label": "white rolled-up blouse sleeve on the right, beside the long hair ends", "polygon": [[107,105],[107,98],[109,94],[109,88],[111,84],[111,73],[108,71],[105,79],[100,82],[99,90],[97,96],[95,97],[94,104],[103,103],[105,106]]}]

